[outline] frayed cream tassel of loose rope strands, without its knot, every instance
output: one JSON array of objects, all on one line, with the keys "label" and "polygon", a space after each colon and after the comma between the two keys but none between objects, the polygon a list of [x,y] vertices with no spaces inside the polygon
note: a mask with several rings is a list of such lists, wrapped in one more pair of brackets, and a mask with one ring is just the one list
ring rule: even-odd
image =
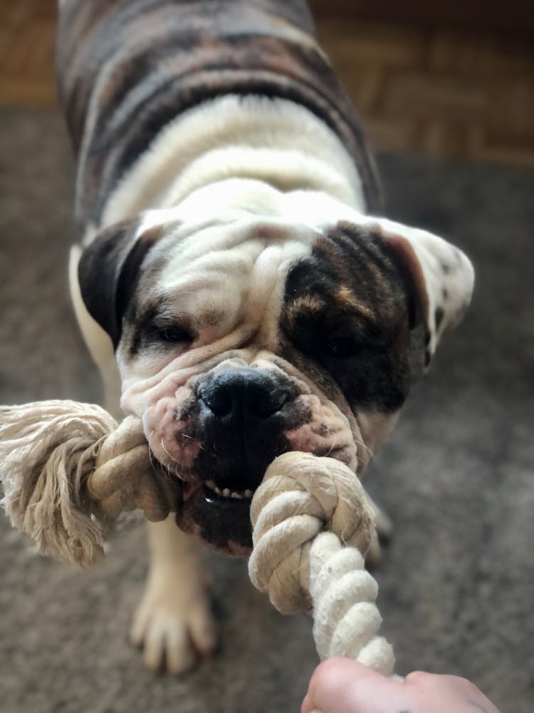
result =
[{"label": "frayed cream tassel of loose rope strands, without its knot", "polygon": [[104,552],[105,523],[86,493],[95,446],[117,428],[94,404],[39,401],[0,407],[0,481],[11,524],[38,550],[87,567]]}]

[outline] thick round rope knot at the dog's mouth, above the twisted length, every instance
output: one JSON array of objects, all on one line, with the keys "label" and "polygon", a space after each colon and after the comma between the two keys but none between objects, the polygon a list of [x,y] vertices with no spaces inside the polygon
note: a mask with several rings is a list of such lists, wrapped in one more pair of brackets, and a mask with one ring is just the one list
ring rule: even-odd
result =
[{"label": "thick round rope knot at the dog's mouth, above the twisted length", "polygon": [[367,552],[374,513],[355,473],[334,458],[283,453],[268,467],[251,505],[248,573],[283,614],[309,610],[310,546],[323,530]]}]

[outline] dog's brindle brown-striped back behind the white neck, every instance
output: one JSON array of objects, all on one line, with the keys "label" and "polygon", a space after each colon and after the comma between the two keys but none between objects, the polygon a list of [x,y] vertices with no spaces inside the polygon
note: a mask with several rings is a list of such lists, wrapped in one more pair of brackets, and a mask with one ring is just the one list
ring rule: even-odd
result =
[{"label": "dog's brindle brown-striped back behind the white neck", "polygon": [[360,126],[300,0],[63,0],[57,63],[80,230],[100,223],[117,182],[169,122],[227,94],[285,98],[322,119],[377,210]]}]

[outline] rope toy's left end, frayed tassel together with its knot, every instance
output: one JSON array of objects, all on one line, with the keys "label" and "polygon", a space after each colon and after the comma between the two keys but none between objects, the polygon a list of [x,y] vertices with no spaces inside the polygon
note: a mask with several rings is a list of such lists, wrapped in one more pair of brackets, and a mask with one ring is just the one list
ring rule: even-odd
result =
[{"label": "rope toy's left end, frayed tassel together with its knot", "polygon": [[38,401],[0,407],[1,503],[38,550],[83,567],[103,554],[122,511],[163,520],[169,482],[153,468],[142,424],[94,404]]}]

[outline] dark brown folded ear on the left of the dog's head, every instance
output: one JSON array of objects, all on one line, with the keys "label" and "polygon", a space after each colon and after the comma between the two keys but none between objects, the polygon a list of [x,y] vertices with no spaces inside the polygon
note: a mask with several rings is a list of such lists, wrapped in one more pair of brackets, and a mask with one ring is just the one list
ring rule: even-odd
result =
[{"label": "dark brown folded ear on the left of the dog's head", "polygon": [[159,225],[143,230],[139,218],[124,220],[100,232],[80,257],[78,280],[83,302],[91,317],[108,332],[115,349],[142,262],[161,235]]}]

